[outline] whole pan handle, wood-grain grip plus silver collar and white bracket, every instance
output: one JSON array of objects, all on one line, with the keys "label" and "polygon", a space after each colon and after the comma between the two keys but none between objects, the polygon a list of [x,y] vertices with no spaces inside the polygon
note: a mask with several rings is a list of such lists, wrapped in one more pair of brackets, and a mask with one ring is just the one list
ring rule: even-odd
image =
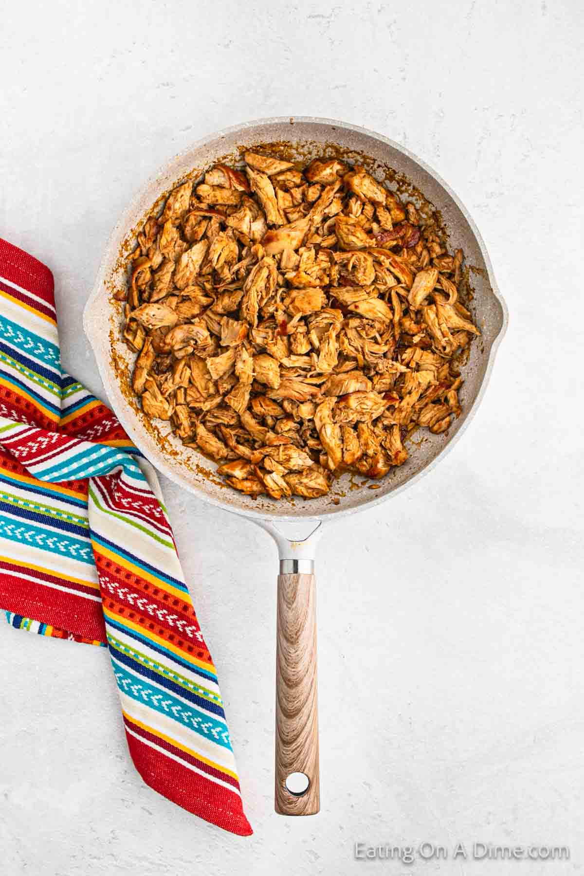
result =
[{"label": "whole pan handle, wood-grain grip plus silver collar and white bracket", "polygon": [[306,522],[304,533],[280,521],[260,525],[271,533],[280,556],[274,808],[279,815],[312,816],[320,809],[314,550],[322,524],[309,521],[308,535]]}]

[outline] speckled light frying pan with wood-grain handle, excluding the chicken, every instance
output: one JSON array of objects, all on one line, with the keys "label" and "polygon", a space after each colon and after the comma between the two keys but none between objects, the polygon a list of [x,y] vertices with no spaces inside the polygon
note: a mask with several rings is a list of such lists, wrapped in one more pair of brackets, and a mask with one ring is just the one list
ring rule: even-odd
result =
[{"label": "speckled light frying pan with wood-grain handle, excluding the chicken", "polygon": [[[124,257],[135,248],[145,217],[152,209],[161,208],[170,189],[179,182],[197,180],[216,161],[238,161],[243,148],[249,147],[305,163],[329,155],[365,165],[376,179],[405,192],[422,215],[438,218],[449,248],[460,247],[470,266],[471,309],[482,334],[471,344],[463,371],[461,416],[447,433],[428,434],[404,465],[378,482],[376,491],[366,486],[355,489],[350,475],[345,474],[329,495],[309,501],[244,496],[222,483],[215,475],[215,463],[184,447],[168,423],[149,422],[132,398],[130,375],[135,354],[123,343],[123,305],[115,300],[116,291],[123,290],[127,282]],[[507,309],[482,237],[447,184],[412,152],[380,134],[311,117],[238,124],[199,140],[146,182],[109,238],[83,325],[111,406],[151,463],[204,501],[252,519],[271,533],[278,545],[275,808],[283,815],[313,815],[320,809],[315,547],[329,521],[381,505],[429,472],[447,449],[452,449],[475,414],[507,325]]]}]

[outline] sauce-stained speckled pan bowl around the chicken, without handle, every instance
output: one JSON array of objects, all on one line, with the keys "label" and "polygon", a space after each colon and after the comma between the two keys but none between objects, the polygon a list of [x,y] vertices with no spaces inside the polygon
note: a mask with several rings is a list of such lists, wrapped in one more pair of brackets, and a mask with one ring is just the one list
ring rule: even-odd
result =
[{"label": "sauce-stained speckled pan bowl around the chicken, without handle", "polygon": [[[376,482],[379,489],[372,491],[361,486],[363,478],[343,475],[334,483],[333,490],[323,498],[282,499],[243,496],[221,483],[216,477],[215,463],[209,462],[193,449],[185,448],[172,434],[170,424],[158,422],[148,425],[136,403],[130,398],[125,376],[131,373],[135,354],[121,340],[122,306],[113,300],[113,292],[127,282],[127,268],[121,255],[136,245],[140,229],[152,205],[170,188],[182,180],[196,180],[217,159],[238,159],[241,147],[270,144],[270,151],[278,149],[306,162],[317,155],[341,147],[343,157],[366,163],[378,179],[386,176],[387,168],[405,177],[419,190],[434,208],[440,210],[447,229],[448,244],[452,249],[461,247],[466,264],[471,265],[470,282],[474,289],[471,308],[475,324],[482,338],[471,345],[468,364],[464,367],[464,384],[460,392],[462,414],[454,420],[446,434],[432,435],[427,430],[417,439],[425,438],[419,447],[411,447],[411,456],[401,467]],[[417,199],[414,197],[414,201]],[[367,504],[376,505],[395,495],[414,478],[426,473],[445,450],[452,447],[468,421],[475,413],[493,364],[496,347],[503,337],[507,315],[503,299],[496,287],[489,256],[475,224],[461,201],[422,161],[397,143],[393,143],[363,128],[335,122],[330,119],[294,117],[272,118],[236,125],[194,143],[177,155],[159,173],[148,180],[130,206],[124,211],[109,239],[95,288],[83,314],[83,325],[95,352],[99,371],[111,406],[123,427],[145,456],[156,468],[200,498],[228,511],[256,518],[315,518],[354,511]],[[338,499],[338,505],[334,504]]]}]

